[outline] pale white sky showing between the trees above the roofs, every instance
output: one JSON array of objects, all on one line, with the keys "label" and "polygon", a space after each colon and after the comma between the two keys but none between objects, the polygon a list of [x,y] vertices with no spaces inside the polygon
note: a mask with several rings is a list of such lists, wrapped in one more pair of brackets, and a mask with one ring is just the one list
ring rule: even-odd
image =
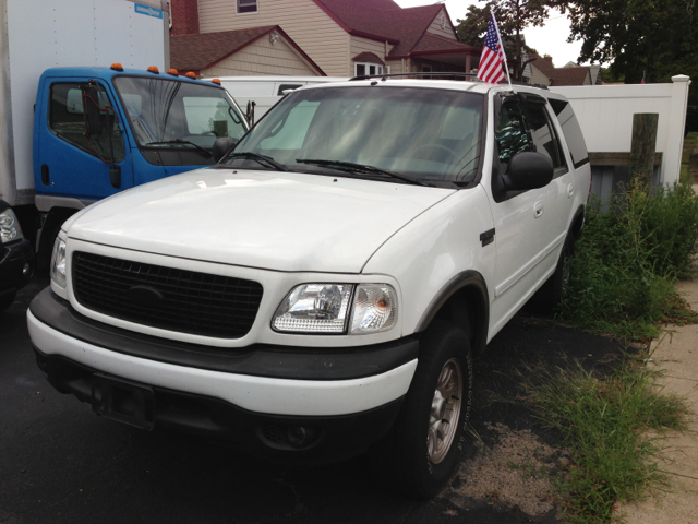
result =
[{"label": "pale white sky showing between the trees above the roofs", "polygon": [[[401,8],[413,8],[416,5],[429,5],[435,3],[434,0],[395,0]],[[468,5],[484,5],[484,2],[472,0],[446,0],[446,4],[450,20],[454,24],[458,19],[465,19]],[[581,41],[567,44],[569,36],[569,21],[567,16],[561,15],[557,11],[551,12],[551,17],[543,27],[529,27],[524,31],[526,44],[535,49],[541,55],[550,55],[553,57],[553,63],[556,68],[562,68],[567,62],[576,62],[581,49]]]}]

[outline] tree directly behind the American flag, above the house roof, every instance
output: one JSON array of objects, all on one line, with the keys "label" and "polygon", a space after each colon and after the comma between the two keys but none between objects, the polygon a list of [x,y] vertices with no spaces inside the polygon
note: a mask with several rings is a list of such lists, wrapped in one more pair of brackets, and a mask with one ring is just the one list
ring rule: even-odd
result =
[{"label": "tree directly behind the American flag, above the house roof", "polygon": [[490,14],[494,13],[504,43],[507,62],[513,80],[524,79],[524,69],[531,60],[524,60],[525,49],[521,32],[526,27],[544,24],[550,9],[557,7],[559,0],[480,0],[484,7],[470,5],[465,20],[458,20],[458,37],[460,41],[481,47],[490,23]]}]

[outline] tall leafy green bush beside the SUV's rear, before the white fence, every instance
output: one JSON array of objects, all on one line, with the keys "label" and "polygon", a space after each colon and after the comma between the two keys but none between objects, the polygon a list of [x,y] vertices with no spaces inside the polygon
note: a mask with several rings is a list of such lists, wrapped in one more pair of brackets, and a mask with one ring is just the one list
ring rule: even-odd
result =
[{"label": "tall leafy green bush beside the SUV's rear, before the white fence", "polygon": [[[697,251],[698,199],[688,184],[635,183],[602,213],[587,209],[583,235],[570,259],[563,317],[630,340],[657,336],[661,321],[696,321],[673,287]],[[677,308],[677,305],[679,306]]]}]

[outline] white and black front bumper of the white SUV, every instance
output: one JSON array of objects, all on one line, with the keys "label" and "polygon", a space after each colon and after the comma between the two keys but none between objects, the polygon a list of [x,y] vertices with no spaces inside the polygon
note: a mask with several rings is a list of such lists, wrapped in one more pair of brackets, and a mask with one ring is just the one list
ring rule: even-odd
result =
[{"label": "white and black front bumper of the white SUV", "polygon": [[[59,391],[96,405],[96,377],[131,381],[153,391],[155,426],[303,463],[359,454],[385,436],[419,348],[413,338],[340,349],[212,348],[101,324],[50,289],[34,299],[27,322],[39,368]],[[285,440],[299,427],[312,442]]]}]

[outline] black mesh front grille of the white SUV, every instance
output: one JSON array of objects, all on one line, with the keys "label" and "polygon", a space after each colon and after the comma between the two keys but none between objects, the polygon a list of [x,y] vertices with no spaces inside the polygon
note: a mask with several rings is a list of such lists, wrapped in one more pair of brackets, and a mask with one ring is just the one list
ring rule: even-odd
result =
[{"label": "black mesh front grille of the white SUV", "polygon": [[219,338],[248,334],[262,285],[229,276],[76,251],[75,298],[85,308],[168,331]]}]

